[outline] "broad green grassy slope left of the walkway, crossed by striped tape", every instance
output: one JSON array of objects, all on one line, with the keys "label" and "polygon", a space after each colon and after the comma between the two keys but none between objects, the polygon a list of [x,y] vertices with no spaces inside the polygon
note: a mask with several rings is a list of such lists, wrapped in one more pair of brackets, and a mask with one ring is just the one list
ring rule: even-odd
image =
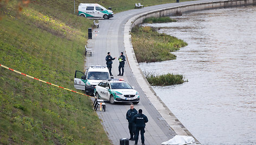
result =
[{"label": "broad green grassy slope left of the walkway, crossed by striped tape", "polygon": [[[0,63],[74,89],[93,22],[72,14],[66,0],[30,2],[18,14],[15,1],[1,9]],[[0,130],[0,144],[110,144],[88,97],[2,67]]]}]

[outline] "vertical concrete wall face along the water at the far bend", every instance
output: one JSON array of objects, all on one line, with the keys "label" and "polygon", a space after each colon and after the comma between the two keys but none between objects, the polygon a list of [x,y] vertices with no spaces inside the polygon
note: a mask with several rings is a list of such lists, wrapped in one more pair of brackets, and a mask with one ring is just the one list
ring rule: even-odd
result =
[{"label": "vertical concrete wall face along the water at the far bend", "polygon": [[199,3],[199,4],[187,4],[187,5],[174,6],[171,8],[150,11],[150,12],[147,12],[146,14],[140,15],[133,22],[132,27],[134,25],[142,23],[143,20],[148,17],[172,16],[172,15],[183,14],[183,13],[193,12],[193,11],[230,8],[234,6],[245,6],[245,5],[256,5],[256,0],[219,1],[219,2],[206,2],[206,3]]}]

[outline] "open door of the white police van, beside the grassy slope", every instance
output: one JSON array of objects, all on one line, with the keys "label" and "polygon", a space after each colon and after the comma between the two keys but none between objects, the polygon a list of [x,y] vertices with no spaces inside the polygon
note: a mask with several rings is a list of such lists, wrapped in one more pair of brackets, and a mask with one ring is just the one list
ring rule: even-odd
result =
[{"label": "open door of the white police van, beside the grassy slope", "polygon": [[75,78],[74,78],[74,87],[75,89],[85,90],[85,83],[86,83],[85,74],[81,71],[75,71]]}]

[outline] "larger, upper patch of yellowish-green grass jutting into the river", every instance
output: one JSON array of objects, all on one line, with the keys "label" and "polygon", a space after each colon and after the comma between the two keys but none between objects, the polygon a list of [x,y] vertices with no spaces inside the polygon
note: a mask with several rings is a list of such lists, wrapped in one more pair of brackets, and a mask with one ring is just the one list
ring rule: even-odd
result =
[{"label": "larger, upper patch of yellowish-green grass jutting into the river", "polygon": [[174,60],[170,52],[188,45],[176,37],[159,34],[156,28],[134,27],[131,32],[133,50],[138,62],[158,62]]}]

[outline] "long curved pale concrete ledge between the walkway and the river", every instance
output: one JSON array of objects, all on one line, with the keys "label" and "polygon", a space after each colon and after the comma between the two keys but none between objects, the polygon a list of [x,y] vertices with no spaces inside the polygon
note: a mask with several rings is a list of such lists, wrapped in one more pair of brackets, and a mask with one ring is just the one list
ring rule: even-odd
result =
[{"label": "long curved pale concrete ledge between the walkway and the river", "polygon": [[[129,21],[126,22],[125,28],[124,28],[124,47],[127,55],[127,62],[129,63],[130,68],[133,74],[135,75],[136,80],[140,85],[140,87],[142,88],[145,95],[149,98],[153,106],[158,110],[158,112],[162,115],[165,121],[167,121],[169,126],[177,133],[177,135],[193,136],[182,125],[182,123],[178,121],[175,115],[171,113],[169,108],[165,106],[161,98],[159,98],[156,95],[155,91],[151,88],[150,84],[146,80],[137,62],[135,52],[133,51],[133,47],[131,43],[131,35],[130,35],[130,31],[132,27],[142,23],[143,19],[148,17],[162,17],[162,16],[174,15],[176,12],[185,13],[185,12],[193,12],[193,11],[200,11],[200,10],[219,9],[219,8],[227,8],[232,6],[244,6],[244,5],[255,5],[255,4],[256,4],[256,0],[213,1],[213,2],[197,1],[197,3],[195,4],[183,4],[183,5],[181,3],[181,5],[179,6],[172,6],[170,8],[144,12],[140,15],[130,18]],[[196,143],[199,143],[199,141],[196,140]]]}]

